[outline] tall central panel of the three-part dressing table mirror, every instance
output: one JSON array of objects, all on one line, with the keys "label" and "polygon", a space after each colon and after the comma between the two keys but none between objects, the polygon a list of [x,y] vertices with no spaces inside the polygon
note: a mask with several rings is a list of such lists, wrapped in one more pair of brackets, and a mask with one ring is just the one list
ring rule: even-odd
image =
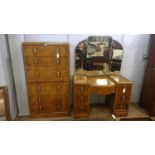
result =
[{"label": "tall central panel of the three-part dressing table mirror", "polygon": [[86,70],[109,71],[111,37],[88,37]]}]

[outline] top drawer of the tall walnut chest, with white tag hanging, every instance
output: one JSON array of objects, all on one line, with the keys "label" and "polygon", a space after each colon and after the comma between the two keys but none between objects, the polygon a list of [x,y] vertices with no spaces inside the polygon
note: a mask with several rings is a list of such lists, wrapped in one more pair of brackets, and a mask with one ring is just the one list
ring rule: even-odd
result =
[{"label": "top drawer of the tall walnut chest, with white tag hanging", "polygon": [[67,45],[48,45],[48,46],[23,46],[24,56],[69,56],[69,47]]}]

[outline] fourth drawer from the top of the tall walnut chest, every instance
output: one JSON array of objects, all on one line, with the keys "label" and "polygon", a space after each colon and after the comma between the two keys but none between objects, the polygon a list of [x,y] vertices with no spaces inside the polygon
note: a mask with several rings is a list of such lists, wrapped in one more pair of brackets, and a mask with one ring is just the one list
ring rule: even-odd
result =
[{"label": "fourth drawer from the top of the tall walnut chest", "polygon": [[28,93],[31,95],[65,95],[69,94],[69,82],[38,82],[27,83]]}]

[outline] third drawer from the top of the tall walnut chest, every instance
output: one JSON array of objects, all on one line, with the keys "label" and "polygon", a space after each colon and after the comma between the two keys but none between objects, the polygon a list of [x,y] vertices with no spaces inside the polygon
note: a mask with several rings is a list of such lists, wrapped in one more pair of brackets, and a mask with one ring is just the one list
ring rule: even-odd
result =
[{"label": "third drawer from the top of the tall walnut chest", "polygon": [[27,82],[69,81],[69,71],[53,70],[50,67],[25,68]]}]

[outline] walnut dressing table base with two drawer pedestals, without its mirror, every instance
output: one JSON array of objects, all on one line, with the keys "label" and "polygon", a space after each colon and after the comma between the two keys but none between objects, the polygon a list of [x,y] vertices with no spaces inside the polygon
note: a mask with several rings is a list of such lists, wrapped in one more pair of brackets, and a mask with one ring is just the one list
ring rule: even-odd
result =
[{"label": "walnut dressing table base with two drawer pedestals, without its mirror", "polygon": [[126,116],[132,83],[121,75],[106,75],[92,71],[74,76],[74,117],[89,117],[91,94],[106,95],[106,104],[116,116]]}]

